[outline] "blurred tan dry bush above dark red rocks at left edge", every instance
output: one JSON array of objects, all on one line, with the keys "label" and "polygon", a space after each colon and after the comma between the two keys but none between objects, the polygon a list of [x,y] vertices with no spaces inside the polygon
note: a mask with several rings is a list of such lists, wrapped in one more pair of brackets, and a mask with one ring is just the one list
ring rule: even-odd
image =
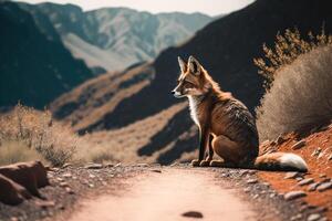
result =
[{"label": "blurred tan dry bush above dark red rocks at left edge", "polygon": [[69,127],[53,123],[49,112],[17,105],[0,116],[0,158],[3,162],[31,159],[61,166],[72,159],[76,136]]}]

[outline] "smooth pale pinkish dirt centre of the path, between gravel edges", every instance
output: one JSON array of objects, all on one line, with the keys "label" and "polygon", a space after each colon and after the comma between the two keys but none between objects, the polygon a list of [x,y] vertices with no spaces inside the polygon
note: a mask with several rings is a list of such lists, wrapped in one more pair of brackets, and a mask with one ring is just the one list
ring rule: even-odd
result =
[{"label": "smooth pale pinkish dirt centre of the path, between gravel edges", "polygon": [[210,172],[165,169],[129,182],[123,194],[83,201],[70,221],[257,220],[249,203],[217,185]]}]

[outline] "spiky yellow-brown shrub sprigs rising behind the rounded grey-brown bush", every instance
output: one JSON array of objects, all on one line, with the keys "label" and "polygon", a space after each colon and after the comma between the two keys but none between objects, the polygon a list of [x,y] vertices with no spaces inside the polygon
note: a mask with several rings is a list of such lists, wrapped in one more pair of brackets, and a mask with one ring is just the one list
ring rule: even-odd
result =
[{"label": "spiky yellow-brown shrub sprigs rising behind the rounded grey-brown bush", "polygon": [[264,57],[253,59],[253,63],[259,67],[258,73],[264,77],[264,87],[267,91],[278,70],[291,64],[299,55],[305,54],[317,48],[332,45],[332,35],[326,35],[324,28],[320,34],[309,32],[307,36],[301,36],[298,29],[287,29],[284,34],[277,34],[274,46],[268,48],[263,44]]}]

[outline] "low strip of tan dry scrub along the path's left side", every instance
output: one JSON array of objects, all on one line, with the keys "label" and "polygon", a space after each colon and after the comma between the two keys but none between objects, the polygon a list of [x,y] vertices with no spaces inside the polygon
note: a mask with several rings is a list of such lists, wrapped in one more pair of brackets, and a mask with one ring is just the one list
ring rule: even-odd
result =
[{"label": "low strip of tan dry scrub along the path's left side", "polygon": [[0,115],[0,165],[37,159],[56,167],[114,161],[112,146],[104,148],[77,136],[72,127],[54,122],[48,110],[19,104]]}]

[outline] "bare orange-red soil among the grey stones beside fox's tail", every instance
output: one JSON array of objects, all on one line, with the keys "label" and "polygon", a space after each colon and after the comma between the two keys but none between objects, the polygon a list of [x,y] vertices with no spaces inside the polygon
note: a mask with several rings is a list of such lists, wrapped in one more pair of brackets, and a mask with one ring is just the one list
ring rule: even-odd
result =
[{"label": "bare orange-red soil among the grey stones beside fox's tail", "polygon": [[[319,182],[326,178],[332,178],[332,124],[329,127],[320,131],[308,133],[310,135],[303,137],[307,141],[305,146],[293,150],[291,147],[301,140],[299,135],[294,133],[286,135],[284,143],[280,145],[269,144],[262,149],[273,148],[278,151],[294,152],[300,155],[308,164],[309,171],[304,178],[313,178],[315,182]],[[312,154],[321,148],[321,152],[318,156]],[[330,159],[329,159],[330,158]],[[300,187],[297,185],[295,179],[284,179],[284,172],[259,172],[260,178],[271,183],[271,186],[279,192],[283,193],[291,190],[303,190],[307,192],[307,197],[303,198],[305,202],[312,206],[328,208],[326,217],[332,218],[332,189],[323,192],[308,191],[308,186]]]}]

